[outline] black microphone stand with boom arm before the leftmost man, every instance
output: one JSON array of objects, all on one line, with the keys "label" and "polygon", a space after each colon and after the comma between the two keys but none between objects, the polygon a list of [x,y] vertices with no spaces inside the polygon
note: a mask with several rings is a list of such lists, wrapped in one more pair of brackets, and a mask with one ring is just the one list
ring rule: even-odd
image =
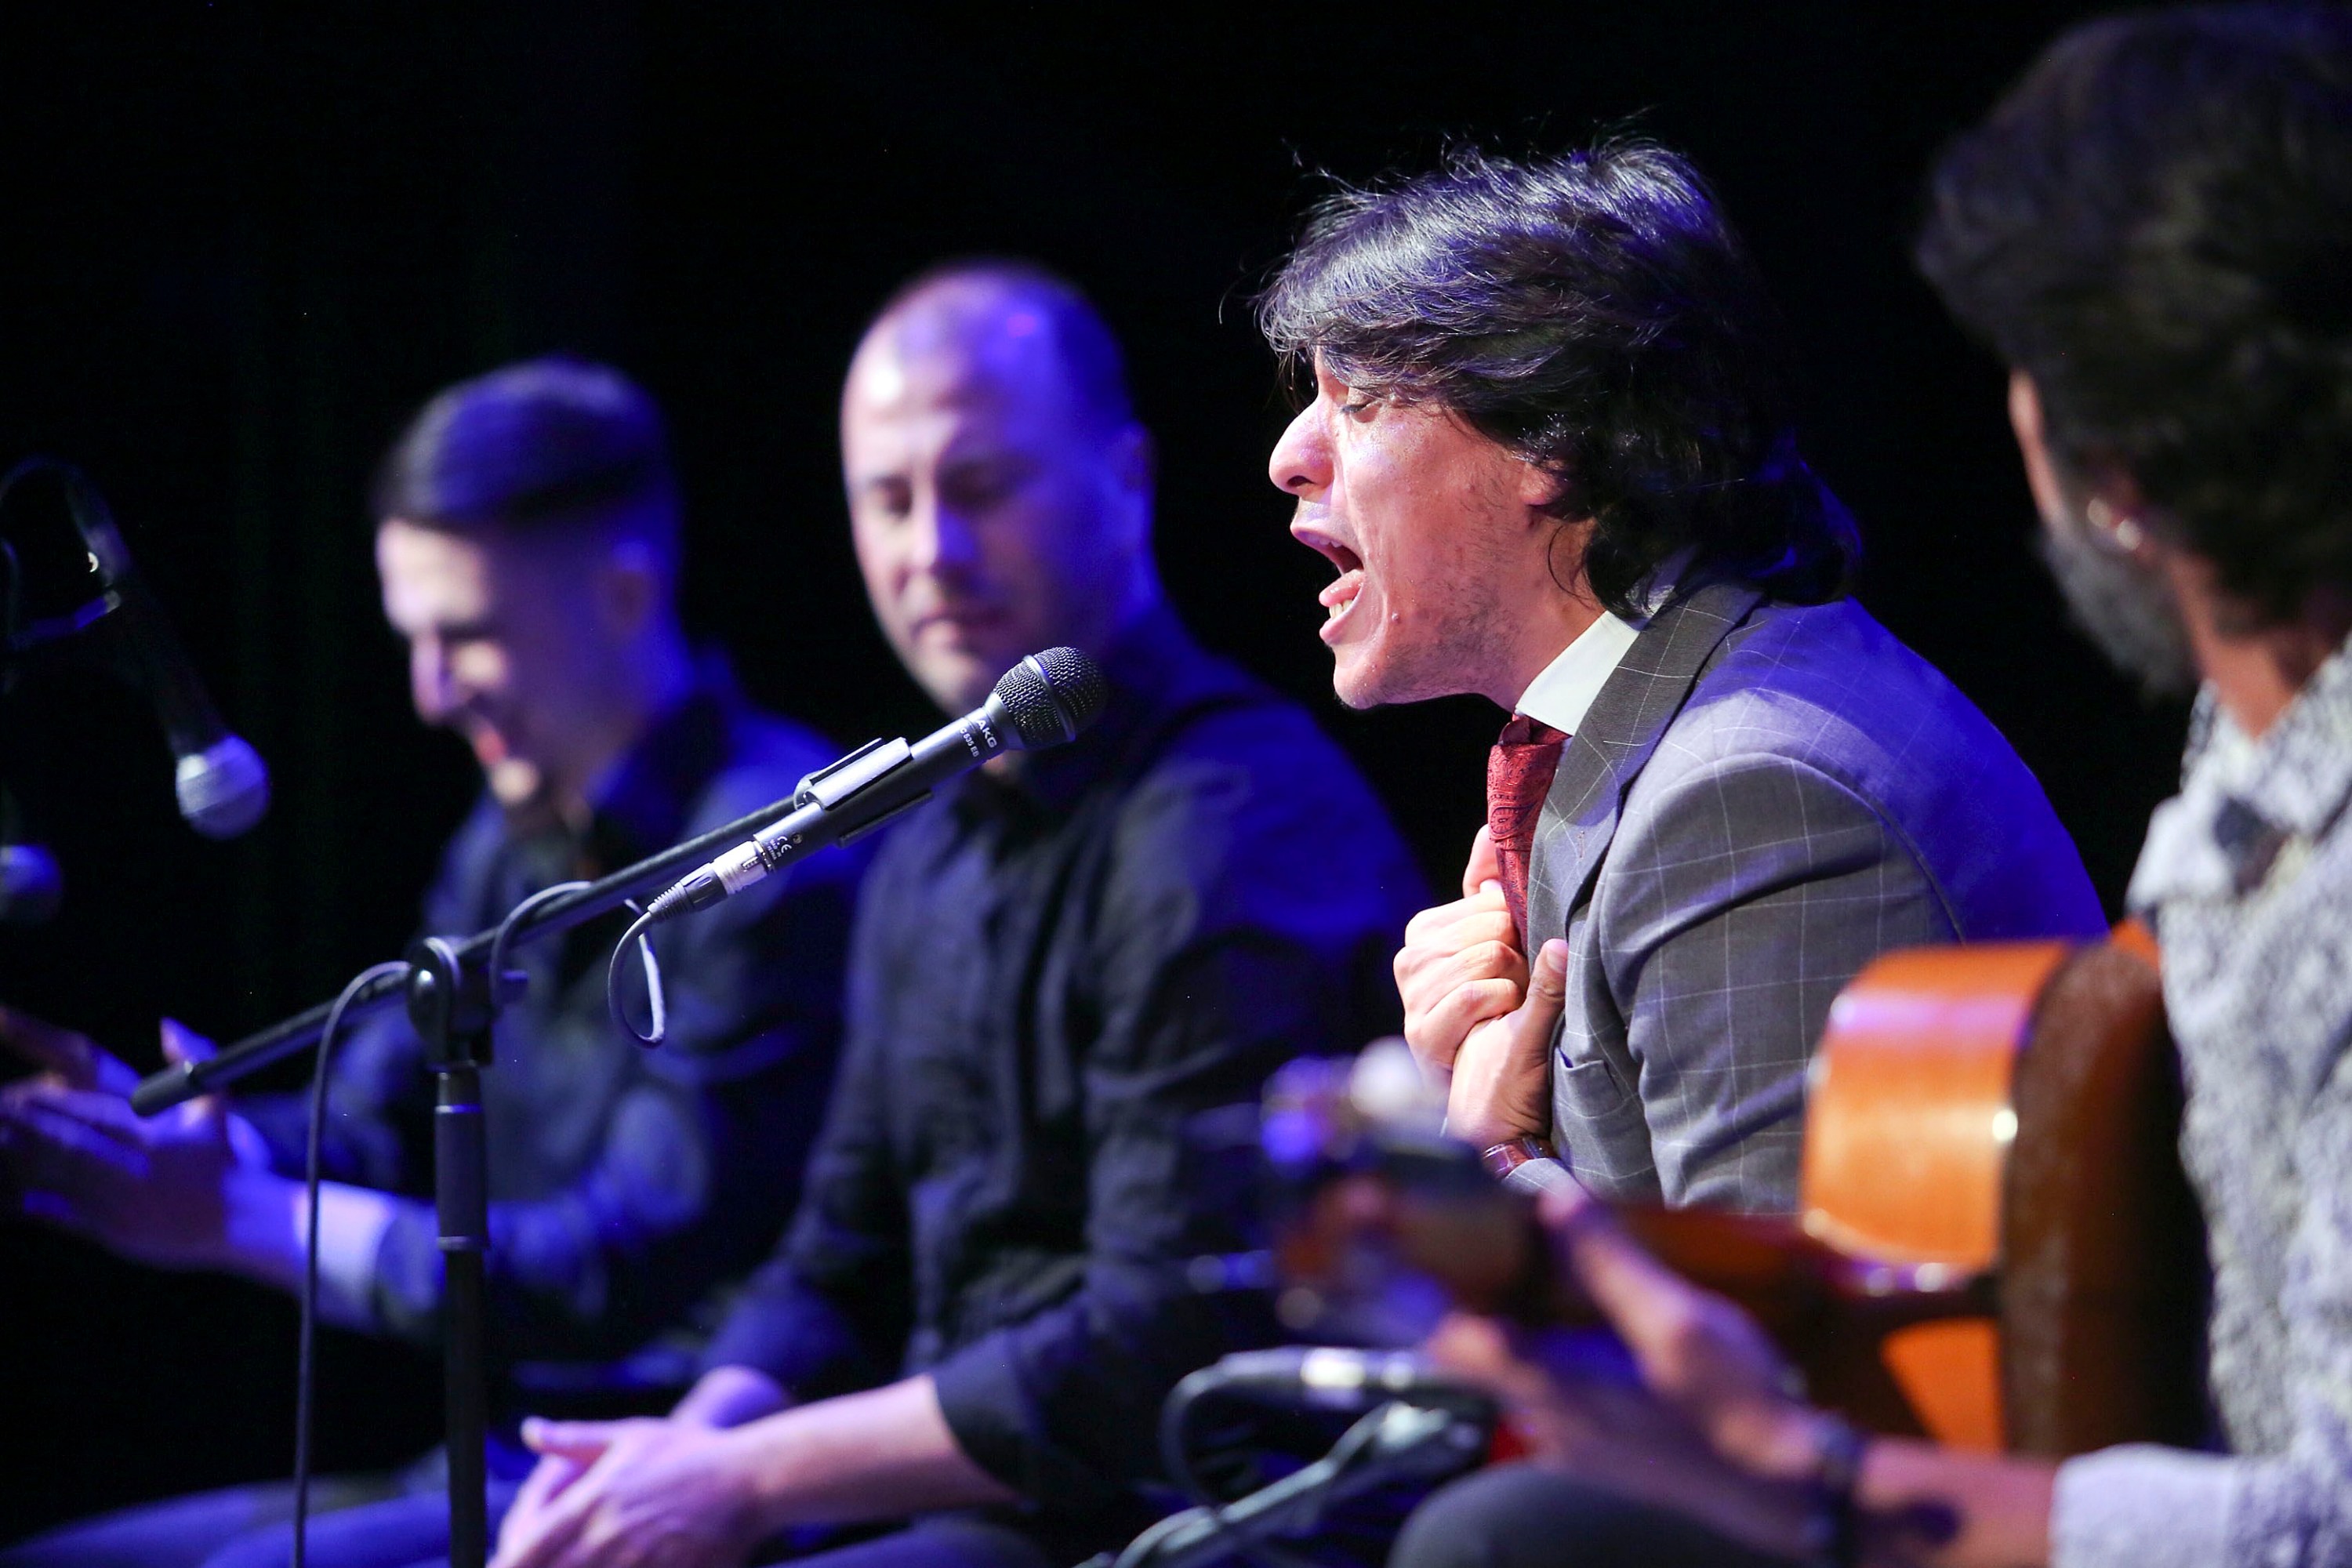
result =
[{"label": "black microphone stand with boom arm before the leftmost man", "polygon": [[[600,877],[574,893],[557,893],[513,922],[508,947],[562,936],[623,903],[668,886],[715,853],[734,849],[793,811],[783,799],[724,827]],[[818,844],[786,846],[779,863]],[[449,1443],[449,1563],[482,1568],[489,1561],[489,1495],[482,1446],[489,1436],[485,1392],[482,1262],[489,1248],[489,1145],[482,1133],[482,1070],[492,1060],[492,1025],[513,994],[503,976],[489,973],[496,929],[466,938],[428,936],[409,945],[405,976],[388,976],[360,990],[343,1009],[346,1023],[402,1001],[426,1046],[426,1067],[437,1079],[433,1105],[433,1208],[447,1269],[442,1298],[442,1382]],[[179,1063],[139,1081],[132,1107],[141,1117],[226,1088],[270,1063],[315,1046],[329,1006],[285,1018],[226,1046],[202,1063]]]}]

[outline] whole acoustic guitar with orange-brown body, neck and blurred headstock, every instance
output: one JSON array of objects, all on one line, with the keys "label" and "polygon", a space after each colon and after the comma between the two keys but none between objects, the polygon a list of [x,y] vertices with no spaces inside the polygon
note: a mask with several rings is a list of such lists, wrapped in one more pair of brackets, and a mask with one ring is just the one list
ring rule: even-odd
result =
[{"label": "whole acoustic guitar with orange-brown body, neck and blurred headstock", "polygon": [[[1289,1072],[1268,1093],[1275,1164],[1315,1152],[1277,1225],[1294,1321],[1305,1300],[1357,1331],[1385,1312],[1369,1333],[1397,1335],[1414,1279],[1477,1312],[1597,1321],[1519,1194],[1359,1091]],[[2178,1121],[2145,933],[1893,952],[1830,1011],[1797,1218],[1621,1218],[1875,1432],[2044,1455],[2194,1443],[2204,1227]]]}]

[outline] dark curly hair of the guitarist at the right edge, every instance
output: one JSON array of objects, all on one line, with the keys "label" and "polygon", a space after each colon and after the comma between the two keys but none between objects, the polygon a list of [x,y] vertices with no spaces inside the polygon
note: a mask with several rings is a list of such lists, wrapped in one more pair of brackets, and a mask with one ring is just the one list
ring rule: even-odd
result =
[{"label": "dark curly hair of the guitarist at the right edge", "polygon": [[2256,621],[2352,588],[2352,14],[2065,33],[1936,167],[1919,268]]}]

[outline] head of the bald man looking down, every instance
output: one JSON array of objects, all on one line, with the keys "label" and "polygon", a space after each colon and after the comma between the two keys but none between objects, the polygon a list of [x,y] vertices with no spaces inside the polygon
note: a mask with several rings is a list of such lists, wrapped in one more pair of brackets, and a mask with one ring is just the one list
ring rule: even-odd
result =
[{"label": "head of the bald man looking down", "polygon": [[842,473],[875,618],[950,712],[1023,654],[1105,651],[1157,599],[1150,437],[1110,329],[1049,273],[901,289],[849,364]]}]

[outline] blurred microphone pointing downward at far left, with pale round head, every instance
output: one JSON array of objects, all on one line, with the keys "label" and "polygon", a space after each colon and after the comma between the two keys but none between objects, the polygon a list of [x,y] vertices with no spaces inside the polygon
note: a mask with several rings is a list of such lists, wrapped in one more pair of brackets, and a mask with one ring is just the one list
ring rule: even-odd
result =
[{"label": "blurred microphone pointing downward at far left, with pale round head", "polygon": [[64,477],[73,527],[106,583],[106,623],[172,743],[179,813],[207,839],[233,839],[270,809],[270,773],[261,752],[221,724],[99,489],[80,470],[64,468]]}]

